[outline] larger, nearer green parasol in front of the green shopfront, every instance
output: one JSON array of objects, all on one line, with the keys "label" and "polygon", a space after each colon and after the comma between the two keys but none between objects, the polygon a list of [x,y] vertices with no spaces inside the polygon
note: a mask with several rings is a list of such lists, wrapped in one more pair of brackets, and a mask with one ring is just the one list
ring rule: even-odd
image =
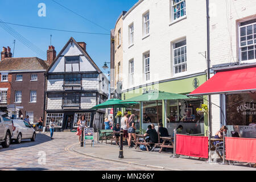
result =
[{"label": "larger, nearer green parasol in front of the green shopfront", "polygon": [[176,93],[169,93],[169,92],[151,92],[142,94],[141,96],[132,97],[122,102],[141,102],[141,101],[160,101],[160,100],[179,100],[179,99],[189,99],[189,97],[182,95],[182,94],[176,94]]}]

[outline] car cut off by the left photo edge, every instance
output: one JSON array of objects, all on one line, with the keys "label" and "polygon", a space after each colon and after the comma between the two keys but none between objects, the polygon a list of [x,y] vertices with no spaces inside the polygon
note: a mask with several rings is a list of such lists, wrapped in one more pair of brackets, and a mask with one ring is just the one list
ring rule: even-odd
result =
[{"label": "car cut off by the left photo edge", "polygon": [[13,122],[8,114],[0,112],[0,144],[3,148],[10,146],[13,130]]}]

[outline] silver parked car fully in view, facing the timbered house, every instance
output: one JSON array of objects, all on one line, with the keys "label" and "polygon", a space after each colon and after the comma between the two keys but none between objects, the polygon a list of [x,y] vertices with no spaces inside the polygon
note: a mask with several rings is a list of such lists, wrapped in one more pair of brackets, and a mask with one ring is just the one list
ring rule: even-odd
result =
[{"label": "silver parked car fully in view, facing the timbered house", "polygon": [[31,139],[32,142],[35,141],[36,132],[26,121],[13,119],[13,124],[15,130],[13,131],[12,139],[15,140],[16,143],[20,143],[22,139]]}]

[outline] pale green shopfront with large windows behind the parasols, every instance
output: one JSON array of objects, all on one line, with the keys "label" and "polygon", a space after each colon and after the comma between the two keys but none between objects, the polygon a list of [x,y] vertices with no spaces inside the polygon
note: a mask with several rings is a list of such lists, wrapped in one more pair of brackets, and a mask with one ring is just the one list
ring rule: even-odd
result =
[{"label": "pale green shopfront with large windows behind the parasols", "polygon": [[[170,92],[177,94],[188,94],[195,90],[198,86],[206,81],[205,73],[190,75],[170,80],[154,82],[152,84],[138,86],[133,89],[123,90],[122,100],[127,100],[132,97],[140,96],[144,93],[153,91]],[[189,98],[188,100],[162,100],[140,102],[126,110],[131,110],[136,116],[136,127],[141,129],[142,133],[146,131],[147,126],[153,123],[155,129],[159,122],[167,127],[169,135],[177,126],[183,126],[182,134],[205,134],[208,131],[207,114],[197,114],[196,108],[201,104],[207,104],[203,98]],[[158,110],[158,117],[157,117]],[[141,119],[142,118],[142,119]],[[142,121],[142,122],[140,122]]]}]

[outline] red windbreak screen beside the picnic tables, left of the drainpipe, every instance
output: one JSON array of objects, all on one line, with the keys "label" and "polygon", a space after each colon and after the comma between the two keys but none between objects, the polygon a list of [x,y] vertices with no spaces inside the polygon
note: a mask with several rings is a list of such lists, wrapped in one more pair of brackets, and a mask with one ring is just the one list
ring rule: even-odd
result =
[{"label": "red windbreak screen beside the picnic tables, left of the drainpipe", "polygon": [[208,137],[176,135],[176,154],[208,159]]}]

